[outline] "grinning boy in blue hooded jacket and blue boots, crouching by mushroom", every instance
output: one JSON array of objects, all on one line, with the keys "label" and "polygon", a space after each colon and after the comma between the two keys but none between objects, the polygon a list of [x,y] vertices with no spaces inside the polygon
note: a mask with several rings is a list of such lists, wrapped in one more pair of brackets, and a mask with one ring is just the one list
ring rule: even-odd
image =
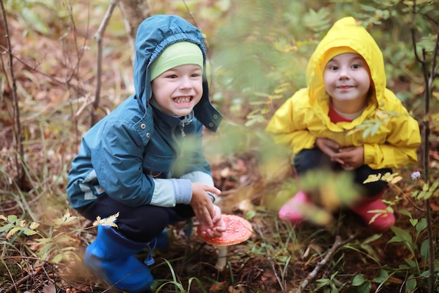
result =
[{"label": "grinning boy in blue hooded jacket and blue boots, crouching by mushroom", "polygon": [[149,268],[134,255],[168,224],[196,216],[210,237],[225,230],[203,155],[203,126],[216,131],[222,119],[208,98],[205,60],[194,25],[175,15],[144,20],[135,41],[135,93],[83,136],[72,161],[72,207],[90,221],[119,213],[118,228],[98,226],[84,256],[117,289],[151,287]]}]

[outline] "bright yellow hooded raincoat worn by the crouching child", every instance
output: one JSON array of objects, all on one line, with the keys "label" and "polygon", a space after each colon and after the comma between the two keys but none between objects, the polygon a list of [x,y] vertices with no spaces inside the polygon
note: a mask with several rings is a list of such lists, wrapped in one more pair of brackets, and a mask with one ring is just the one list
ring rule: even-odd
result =
[{"label": "bright yellow hooded raincoat worn by the crouching child", "polygon": [[[374,94],[360,117],[335,124],[327,115],[330,97],[325,91],[323,70],[328,60],[344,53],[341,47],[351,48],[366,60]],[[386,89],[381,50],[354,18],[335,22],[320,41],[306,69],[306,84],[306,89],[299,89],[286,100],[266,126],[276,143],[289,145],[292,154],[314,148],[316,138],[329,138],[341,147],[364,145],[364,162],[372,169],[398,168],[417,162],[419,125],[395,94]],[[364,131],[358,126],[372,119],[381,119],[383,123],[376,134],[363,138]]]}]

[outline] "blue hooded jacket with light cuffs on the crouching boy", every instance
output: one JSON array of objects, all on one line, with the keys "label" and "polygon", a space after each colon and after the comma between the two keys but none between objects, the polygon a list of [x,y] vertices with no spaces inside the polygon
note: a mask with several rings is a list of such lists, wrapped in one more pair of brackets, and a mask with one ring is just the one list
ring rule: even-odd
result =
[{"label": "blue hooded jacket with light cuffs on the crouching boy", "polygon": [[[177,41],[197,44],[204,57],[203,96],[187,117],[166,115],[149,103],[149,67]],[[69,171],[67,195],[72,207],[83,207],[104,194],[132,207],[174,207],[189,204],[192,182],[213,185],[202,130],[205,126],[216,131],[222,115],[210,104],[205,60],[200,30],[183,18],[154,15],[140,24],[135,93],[83,136]]]}]

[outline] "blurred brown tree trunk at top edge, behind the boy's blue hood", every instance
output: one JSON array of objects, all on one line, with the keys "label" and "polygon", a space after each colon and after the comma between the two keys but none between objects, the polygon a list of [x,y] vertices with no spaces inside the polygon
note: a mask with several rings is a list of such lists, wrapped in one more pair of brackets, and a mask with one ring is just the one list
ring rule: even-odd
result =
[{"label": "blurred brown tree trunk at top edge, behind the boy's blue hood", "polygon": [[134,60],[134,41],[137,27],[145,18],[151,16],[151,8],[149,8],[147,0],[120,0],[118,5],[122,12],[126,31],[128,32]]}]

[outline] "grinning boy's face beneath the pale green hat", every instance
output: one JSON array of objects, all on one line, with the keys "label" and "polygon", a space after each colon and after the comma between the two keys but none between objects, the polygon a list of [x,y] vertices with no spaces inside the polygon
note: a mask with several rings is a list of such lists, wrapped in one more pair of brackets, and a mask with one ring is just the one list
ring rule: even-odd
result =
[{"label": "grinning boy's face beneath the pale green hat", "polygon": [[199,65],[173,67],[151,82],[152,98],[162,112],[186,116],[203,95],[203,70]]}]

